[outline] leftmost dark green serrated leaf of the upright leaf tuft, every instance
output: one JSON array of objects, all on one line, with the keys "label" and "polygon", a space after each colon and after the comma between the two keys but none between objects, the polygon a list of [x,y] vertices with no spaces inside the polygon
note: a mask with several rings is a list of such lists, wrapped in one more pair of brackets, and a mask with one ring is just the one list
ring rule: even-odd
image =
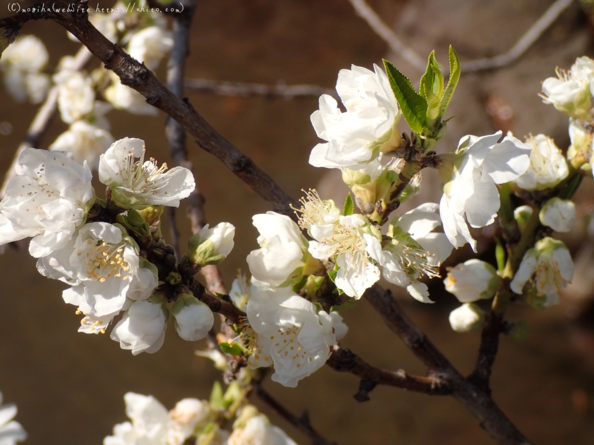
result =
[{"label": "leftmost dark green serrated leaf of the upright leaf tuft", "polygon": [[398,71],[396,66],[386,60],[384,60],[384,66],[386,66],[390,86],[400,104],[406,123],[412,131],[421,133],[427,120],[427,103],[425,99],[415,91],[410,80],[402,72]]}]

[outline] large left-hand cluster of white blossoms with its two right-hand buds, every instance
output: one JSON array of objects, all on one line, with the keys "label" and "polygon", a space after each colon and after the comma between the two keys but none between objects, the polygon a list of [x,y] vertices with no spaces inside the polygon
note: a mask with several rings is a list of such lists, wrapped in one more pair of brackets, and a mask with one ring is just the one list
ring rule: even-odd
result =
[{"label": "large left-hand cluster of white blossoms with its two right-hand buds", "polygon": [[[114,142],[100,156],[100,182],[109,186],[109,199],[120,212],[127,209],[118,215],[122,224],[87,220],[91,206],[106,204],[96,198],[86,161],[78,164],[71,154],[59,151],[25,150],[0,202],[0,244],[32,237],[29,252],[37,258],[40,274],[70,286],[62,297],[83,314],[79,331],[103,333],[122,315],[110,336],[132,354],[161,347],[169,309],[176,331],[189,341],[204,338],[214,322],[210,309],[193,295],[179,295],[168,309],[157,289],[157,267],[134,239],[134,215],[177,207],[195,187],[185,167],[168,170],[144,156],[144,141],[131,138]],[[210,246],[211,255],[222,260],[233,247],[234,232],[223,222],[198,236],[201,245]]]}]

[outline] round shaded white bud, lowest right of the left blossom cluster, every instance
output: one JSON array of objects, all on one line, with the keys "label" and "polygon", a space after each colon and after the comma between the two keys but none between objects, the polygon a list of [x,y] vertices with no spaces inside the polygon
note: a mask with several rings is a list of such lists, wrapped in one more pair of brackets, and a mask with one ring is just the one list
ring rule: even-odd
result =
[{"label": "round shaded white bud, lowest right of the left blossom cluster", "polygon": [[179,294],[172,313],[175,330],[181,338],[190,342],[206,337],[214,324],[210,308],[194,295]]}]

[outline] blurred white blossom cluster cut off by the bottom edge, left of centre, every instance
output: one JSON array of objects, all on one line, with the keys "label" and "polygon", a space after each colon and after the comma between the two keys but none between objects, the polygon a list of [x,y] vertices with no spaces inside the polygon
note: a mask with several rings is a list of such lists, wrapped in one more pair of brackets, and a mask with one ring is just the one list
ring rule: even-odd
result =
[{"label": "blurred white blossom cluster cut off by the bottom edge, left of centre", "polygon": [[[103,445],[296,445],[252,405],[242,405],[231,430],[221,427],[225,414],[206,400],[183,399],[167,411],[153,396],[124,396],[128,422],[113,427]],[[193,442],[192,442],[193,443]]]}]

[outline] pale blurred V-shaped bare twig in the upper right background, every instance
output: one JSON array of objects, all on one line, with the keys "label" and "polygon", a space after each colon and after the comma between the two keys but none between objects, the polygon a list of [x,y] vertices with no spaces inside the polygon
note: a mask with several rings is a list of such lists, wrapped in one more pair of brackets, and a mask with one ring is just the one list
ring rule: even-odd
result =
[{"label": "pale blurred V-shaped bare twig in the upper right background", "polygon": [[[410,65],[420,71],[425,71],[427,63],[421,56],[402,43],[402,40],[400,40],[396,33],[394,33],[392,28],[381,20],[365,0],[349,0],[349,2],[353,5],[357,14],[364,18],[369,27],[371,27],[378,36],[384,39],[391,50],[402,56],[402,58],[408,61]],[[508,50],[508,52],[495,57],[460,62],[462,74],[473,71],[482,71],[484,69],[501,68],[501,66],[509,65],[511,62],[516,61],[527,49],[529,49],[530,46],[533,45],[533,43],[536,42],[536,40],[539,39],[539,37],[541,37],[546,28],[551,26],[561,15],[561,12],[565,11],[572,2],[573,0],[555,1],[548,9],[546,9],[541,18],[536,20],[529,30],[520,37],[516,44]],[[447,69],[444,69],[444,73],[446,71]]]}]

